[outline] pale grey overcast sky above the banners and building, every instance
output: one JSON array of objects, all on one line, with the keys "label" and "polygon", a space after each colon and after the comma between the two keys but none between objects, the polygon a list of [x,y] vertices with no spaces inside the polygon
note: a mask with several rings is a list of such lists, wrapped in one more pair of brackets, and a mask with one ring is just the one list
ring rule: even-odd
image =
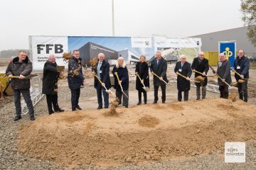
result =
[{"label": "pale grey overcast sky above the banners and building", "polygon": [[[1,0],[0,50],[28,35],[112,35],[112,0]],[[188,37],[242,27],[240,0],[114,0],[115,36]]]}]

